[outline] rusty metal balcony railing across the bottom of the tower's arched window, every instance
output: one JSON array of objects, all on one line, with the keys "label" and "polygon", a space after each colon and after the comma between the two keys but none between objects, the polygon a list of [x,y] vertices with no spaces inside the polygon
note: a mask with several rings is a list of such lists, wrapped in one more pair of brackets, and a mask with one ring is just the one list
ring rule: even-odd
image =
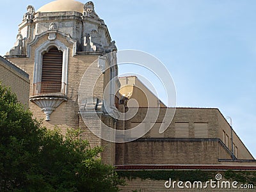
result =
[{"label": "rusty metal balcony railing across the bottom of the tower's arched window", "polygon": [[65,95],[66,83],[40,82],[33,84],[32,95]]}]

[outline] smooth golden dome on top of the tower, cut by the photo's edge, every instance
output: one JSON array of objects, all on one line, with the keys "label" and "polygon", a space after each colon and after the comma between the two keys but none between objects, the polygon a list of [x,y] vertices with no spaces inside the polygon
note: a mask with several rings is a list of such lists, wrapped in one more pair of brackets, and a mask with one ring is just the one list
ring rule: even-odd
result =
[{"label": "smooth golden dome on top of the tower, cut by the photo's edge", "polygon": [[47,3],[36,12],[79,12],[83,13],[84,4],[74,0],[56,0]]}]

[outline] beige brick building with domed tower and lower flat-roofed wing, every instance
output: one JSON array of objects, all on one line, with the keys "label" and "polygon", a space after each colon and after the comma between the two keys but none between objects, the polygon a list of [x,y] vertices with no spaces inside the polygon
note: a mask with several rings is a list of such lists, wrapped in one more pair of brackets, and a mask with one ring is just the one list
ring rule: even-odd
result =
[{"label": "beige brick building with domed tower and lower flat-roofed wing", "polygon": [[[104,147],[102,161],[115,165],[120,173],[256,170],[255,159],[218,109],[177,108],[166,131],[159,133],[171,108],[137,77],[116,78],[115,41],[91,1],[57,0],[38,10],[28,6],[17,42],[6,58],[29,74],[28,100],[33,115],[44,119],[49,129],[57,125],[64,133],[68,127],[81,127],[83,138],[92,146]],[[131,99],[137,100],[138,112],[129,120],[118,120],[120,112],[125,115],[134,108],[127,106]],[[143,122],[150,108],[159,109],[156,121]],[[115,131],[138,124],[141,129],[152,129],[131,142],[111,142]],[[112,132],[106,131],[106,126]],[[129,185],[123,191],[166,191],[164,180],[154,181],[157,187],[152,182],[127,180]]]}]

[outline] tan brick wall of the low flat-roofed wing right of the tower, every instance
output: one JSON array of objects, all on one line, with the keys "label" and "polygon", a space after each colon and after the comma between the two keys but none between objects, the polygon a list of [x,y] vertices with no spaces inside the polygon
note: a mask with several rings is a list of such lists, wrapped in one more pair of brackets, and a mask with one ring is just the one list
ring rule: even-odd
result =
[{"label": "tan brick wall of the low flat-roofed wing right of the tower", "polygon": [[[218,109],[177,108],[168,129],[159,134],[164,112],[165,109],[160,110],[156,125],[143,138],[116,144],[116,164],[221,164],[218,159],[232,158],[230,148],[224,145],[219,134],[224,123],[226,128],[229,125]],[[145,113],[147,108],[139,109],[136,116],[125,121],[126,129],[140,124]],[[177,138],[175,124],[180,123],[188,125],[188,135]],[[208,129],[207,134],[195,132],[195,125],[198,124]],[[122,122],[119,122],[118,126],[121,125]],[[244,158],[253,159],[241,140],[236,140],[236,143],[241,147],[243,152],[240,154],[244,154]]]}]

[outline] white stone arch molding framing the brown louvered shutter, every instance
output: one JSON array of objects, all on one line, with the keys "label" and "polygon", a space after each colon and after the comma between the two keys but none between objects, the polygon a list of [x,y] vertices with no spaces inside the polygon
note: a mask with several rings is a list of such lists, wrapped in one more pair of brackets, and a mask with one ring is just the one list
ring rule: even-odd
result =
[{"label": "white stone arch molding framing the brown louvered shutter", "polygon": [[[40,45],[35,49],[35,67],[33,75],[33,83],[41,83],[42,81],[42,60],[44,52],[49,51],[52,47],[57,47],[59,51],[63,52],[63,61],[62,61],[62,76],[61,82],[67,84],[68,76],[68,47],[60,42],[59,40],[50,41],[47,40],[44,44]],[[67,94],[67,89],[65,90]]]}]

